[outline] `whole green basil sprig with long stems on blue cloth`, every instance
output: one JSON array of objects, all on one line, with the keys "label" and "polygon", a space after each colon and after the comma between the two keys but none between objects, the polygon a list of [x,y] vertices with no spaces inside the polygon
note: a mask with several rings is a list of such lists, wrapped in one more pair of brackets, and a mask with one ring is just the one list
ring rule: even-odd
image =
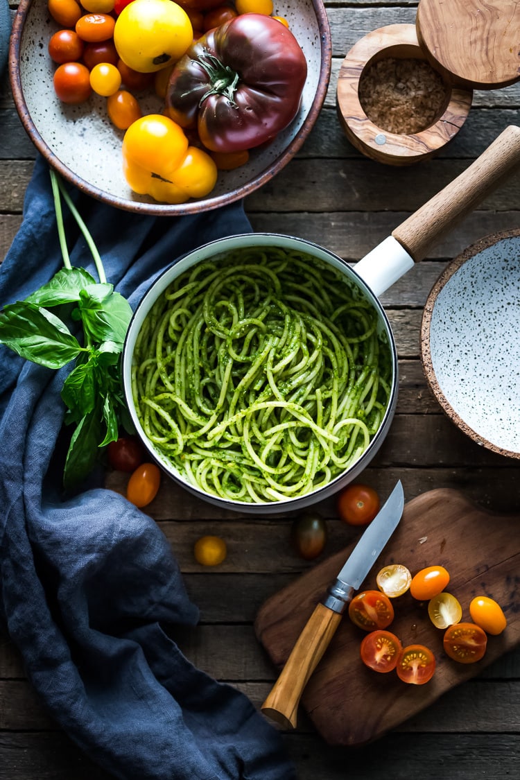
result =
[{"label": "whole green basil sprig with long stems on blue cloth", "polygon": [[[51,182],[64,267],[25,300],[3,308],[0,343],[52,369],[74,361],[62,387],[65,424],[76,426],[63,473],[64,487],[71,489],[87,477],[100,448],[115,441],[119,426],[128,420],[122,395],[121,353],[132,310],[106,281],[87,226],[54,171]],[[70,263],[60,194],[87,240],[99,282],[84,268],[74,268]]]}]

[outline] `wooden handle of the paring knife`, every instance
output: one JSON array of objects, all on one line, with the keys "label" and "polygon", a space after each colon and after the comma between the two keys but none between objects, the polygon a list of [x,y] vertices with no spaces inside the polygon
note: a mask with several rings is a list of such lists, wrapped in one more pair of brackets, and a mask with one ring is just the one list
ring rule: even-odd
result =
[{"label": "wooden handle of the paring knife", "polygon": [[318,604],[296,640],[262,712],[286,729],[296,728],[299,700],[338,628],[341,615]]}]

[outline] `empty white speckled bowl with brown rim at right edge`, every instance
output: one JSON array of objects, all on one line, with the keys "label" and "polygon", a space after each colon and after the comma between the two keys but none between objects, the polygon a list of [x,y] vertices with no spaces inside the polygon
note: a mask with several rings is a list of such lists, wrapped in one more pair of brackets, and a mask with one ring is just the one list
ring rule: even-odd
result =
[{"label": "empty white speckled bowl with brown rim at right edge", "polygon": [[520,229],[487,236],[433,285],[421,331],[426,378],[477,444],[520,458]]}]

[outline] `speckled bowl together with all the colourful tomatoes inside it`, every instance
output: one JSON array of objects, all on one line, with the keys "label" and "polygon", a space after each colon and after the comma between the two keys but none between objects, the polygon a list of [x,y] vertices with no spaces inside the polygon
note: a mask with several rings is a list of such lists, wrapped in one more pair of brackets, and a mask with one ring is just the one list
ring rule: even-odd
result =
[{"label": "speckled bowl together with all the colourful tomatoes inside it", "polygon": [[[161,12],[165,9],[172,17],[168,23],[173,25],[173,34],[168,35],[166,25],[160,26],[159,32],[157,27],[142,31],[150,40],[164,38],[160,53],[152,51],[146,62],[140,59],[139,47],[129,34],[139,24],[135,18],[132,21],[134,9],[143,2],[159,5]],[[223,5],[221,0],[181,2],[21,0],[13,23],[9,75],[16,108],[30,139],[65,180],[97,200],[126,211],[182,215],[214,209],[252,193],[284,168],[302,146],[327,92],[331,34],[321,0],[281,0],[279,5],[274,0],[272,7],[271,0],[235,0],[232,5]],[[122,24],[123,16],[130,20],[127,27]],[[292,37],[297,44],[296,54],[300,58],[303,55],[306,74],[301,97],[288,123],[274,122],[264,136],[252,135],[249,126],[249,137],[240,138],[240,126],[243,133],[246,122],[241,119],[233,124],[236,116],[243,118],[256,112],[261,118],[259,125],[271,122],[272,106],[257,105],[251,111],[254,85],[246,96],[247,105],[240,94],[242,82],[256,78],[259,63],[265,69],[270,59],[267,55],[259,56],[256,51],[256,61],[246,62],[242,55],[248,47],[242,44],[237,69],[244,76],[239,73],[236,93],[227,93],[227,113],[222,112],[225,119],[221,126],[210,126],[209,130],[208,120],[200,118],[202,112],[194,118],[189,113],[193,107],[184,105],[182,98],[175,103],[172,71],[189,55],[188,66],[175,82],[182,95],[179,90],[186,83],[186,74],[193,76],[194,69],[198,73],[208,63],[214,65],[210,44],[222,51],[225,46],[232,48],[231,27],[226,34],[222,32],[226,25],[232,23],[235,39],[250,34],[251,40],[258,41],[255,30],[244,33],[240,29],[245,23],[251,24],[253,16],[260,18],[260,27],[270,25],[274,37],[280,38],[278,57],[290,48],[286,41]],[[192,53],[197,42],[198,48]],[[198,62],[200,52],[203,55]],[[284,70],[286,79],[296,78],[289,68]],[[270,77],[274,80],[272,74]],[[278,105],[287,105],[285,95],[291,93],[291,83],[283,86],[285,93],[278,96]],[[230,88],[234,90],[235,86]],[[201,89],[200,83],[193,87],[199,90],[195,108],[207,97]],[[224,101],[225,97],[221,105]],[[159,154],[153,135],[144,140],[141,135],[133,148],[126,150],[130,147],[129,141],[125,144],[129,127],[138,120],[144,129],[159,135],[169,132],[171,125],[180,126],[181,132],[175,129],[173,135],[170,133],[174,146],[166,145],[164,151],[161,147]],[[168,126],[166,130],[164,126]],[[207,137],[202,141],[204,132]],[[223,137],[228,146],[222,149]],[[235,150],[229,143],[235,147],[246,144],[246,148]],[[147,154],[153,157],[155,152],[160,160],[146,158],[143,162],[145,147]],[[161,167],[168,159],[175,161],[172,175],[172,165]],[[191,168],[186,168],[188,164]],[[149,175],[151,171],[156,186],[143,184],[143,165]],[[195,186],[185,186],[189,176],[196,181]]]}]

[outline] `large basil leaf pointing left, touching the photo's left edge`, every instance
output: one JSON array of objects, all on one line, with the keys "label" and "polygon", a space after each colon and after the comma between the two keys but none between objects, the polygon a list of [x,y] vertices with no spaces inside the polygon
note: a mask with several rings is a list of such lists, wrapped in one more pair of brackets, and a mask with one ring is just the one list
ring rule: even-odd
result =
[{"label": "large basil leaf pointing left, touching the photo's left edge", "polygon": [[48,368],[61,368],[82,351],[62,320],[24,301],[10,303],[0,313],[0,342],[19,356]]}]

